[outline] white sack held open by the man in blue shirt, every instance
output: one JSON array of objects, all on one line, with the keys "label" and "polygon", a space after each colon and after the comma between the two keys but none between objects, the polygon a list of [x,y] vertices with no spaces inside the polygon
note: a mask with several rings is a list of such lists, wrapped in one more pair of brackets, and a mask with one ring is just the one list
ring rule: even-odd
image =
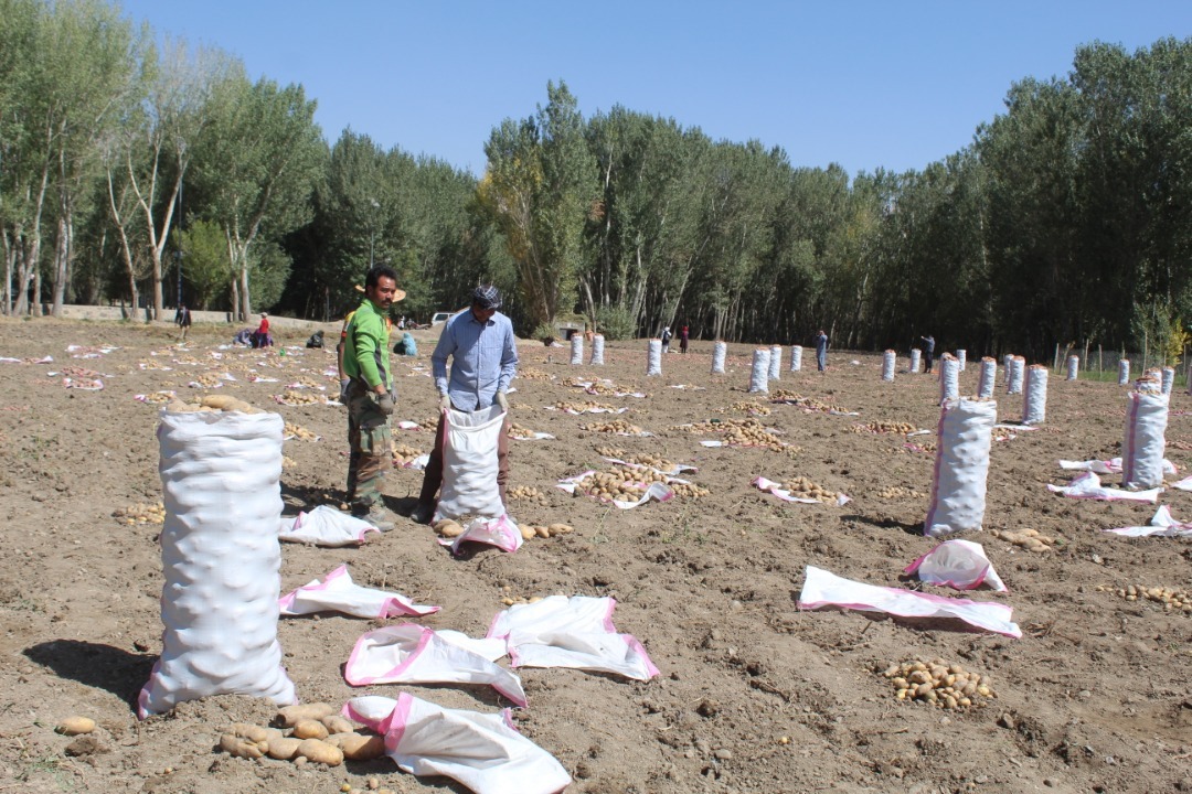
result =
[{"label": "white sack held open by the man in blue shirt", "polygon": [[468,413],[447,412],[443,438],[443,484],[434,520],[505,513],[497,488],[497,444],[505,413],[498,405]]}]

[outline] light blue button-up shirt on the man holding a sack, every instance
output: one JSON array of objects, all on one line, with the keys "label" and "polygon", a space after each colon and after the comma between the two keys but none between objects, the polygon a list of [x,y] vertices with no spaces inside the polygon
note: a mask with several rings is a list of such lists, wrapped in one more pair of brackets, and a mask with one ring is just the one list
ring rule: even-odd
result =
[{"label": "light blue button-up shirt on the man holding a sack", "polygon": [[[447,358],[452,358],[451,381]],[[488,323],[465,310],[447,320],[430,356],[435,387],[451,396],[459,411],[488,408],[497,392],[509,388],[517,374],[517,339],[509,318],[496,312]]]}]

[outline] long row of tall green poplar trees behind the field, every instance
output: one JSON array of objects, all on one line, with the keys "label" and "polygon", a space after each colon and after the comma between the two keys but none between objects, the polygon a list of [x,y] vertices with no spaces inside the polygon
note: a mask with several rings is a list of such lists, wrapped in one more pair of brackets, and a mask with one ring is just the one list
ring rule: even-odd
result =
[{"label": "long row of tall green poplar trees behind the field", "polygon": [[493,282],[526,336],[824,327],[1042,357],[1157,348],[1192,317],[1192,39],[1081,46],[962,151],[851,177],[622,107],[584,118],[563,82],[492,129],[480,177],[350,129],[328,144],[313,112],[99,0],[0,0],[2,312],[181,296],[331,319],[385,262],[401,313]]}]

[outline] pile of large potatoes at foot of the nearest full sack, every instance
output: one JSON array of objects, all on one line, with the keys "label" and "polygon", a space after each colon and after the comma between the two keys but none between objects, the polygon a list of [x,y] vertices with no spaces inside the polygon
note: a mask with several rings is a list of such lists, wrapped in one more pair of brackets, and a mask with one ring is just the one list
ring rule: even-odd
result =
[{"label": "pile of large potatoes at foot of the nearest full sack", "polygon": [[275,758],[296,764],[339,767],[343,759],[373,761],[385,755],[380,736],[360,733],[330,704],[286,706],[275,727],[236,723],[219,737],[219,749],[238,758]]}]

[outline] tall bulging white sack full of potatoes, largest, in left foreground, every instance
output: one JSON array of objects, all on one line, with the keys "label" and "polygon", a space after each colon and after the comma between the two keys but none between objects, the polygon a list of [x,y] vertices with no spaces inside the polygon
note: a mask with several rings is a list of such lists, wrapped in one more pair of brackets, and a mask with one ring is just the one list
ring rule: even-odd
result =
[{"label": "tall bulging white sack full of potatoes, largest, in left foreground", "polygon": [[159,414],[162,651],[143,719],[209,695],[296,701],[281,667],[281,437],[277,413]]}]

